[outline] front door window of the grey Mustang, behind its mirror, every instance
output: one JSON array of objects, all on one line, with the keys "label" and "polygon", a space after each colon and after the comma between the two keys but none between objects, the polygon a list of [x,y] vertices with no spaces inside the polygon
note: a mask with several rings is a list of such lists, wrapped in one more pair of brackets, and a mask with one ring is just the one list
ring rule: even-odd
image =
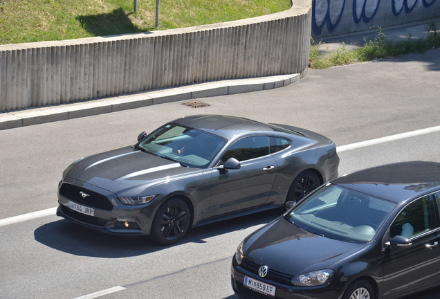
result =
[{"label": "front door window of the grey Mustang, behind its mirror", "polygon": [[246,137],[229,147],[221,158],[221,164],[228,161],[228,158],[236,158],[241,162],[268,154],[270,154],[268,136]]}]

